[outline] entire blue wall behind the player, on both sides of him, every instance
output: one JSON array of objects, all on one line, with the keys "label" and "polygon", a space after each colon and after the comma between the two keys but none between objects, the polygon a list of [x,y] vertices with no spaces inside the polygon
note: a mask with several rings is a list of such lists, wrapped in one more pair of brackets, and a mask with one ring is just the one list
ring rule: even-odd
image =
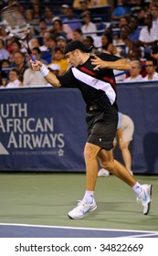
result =
[{"label": "entire blue wall behind the player, on both sides of him", "polygon": [[[135,124],[132,170],[157,174],[158,83],[119,84],[118,104]],[[1,90],[1,171],[85,171],[86,139],[85,103],[78,90]],[[115,157],[122,161],[118,149]]]}]

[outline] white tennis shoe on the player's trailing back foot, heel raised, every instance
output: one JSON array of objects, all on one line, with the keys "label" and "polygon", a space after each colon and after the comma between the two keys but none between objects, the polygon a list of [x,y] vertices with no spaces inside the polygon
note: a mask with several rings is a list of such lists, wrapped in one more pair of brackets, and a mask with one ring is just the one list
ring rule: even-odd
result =
[{"label": "white tennis shoe on the player's trailing back foot, heel raised", "polygon": [[137,202],[142,203],[143,214],[147,215],[151,208],[153,185],[142,185],[142,192],[137,197]]}]

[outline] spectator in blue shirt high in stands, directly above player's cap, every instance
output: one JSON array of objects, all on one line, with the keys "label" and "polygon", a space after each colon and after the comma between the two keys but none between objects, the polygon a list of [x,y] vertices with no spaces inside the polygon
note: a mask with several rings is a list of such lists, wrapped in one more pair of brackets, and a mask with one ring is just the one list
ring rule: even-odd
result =
[{"label": "spectator in blue shirt high in stands, directly above player's cap", "polygon": [[62,19],[62,22],[67,23],[72,30],[82,26],[79,18],[77,18],[74,14],[74,9],[71,7],[68,8],[67,15],[65,18]]}]

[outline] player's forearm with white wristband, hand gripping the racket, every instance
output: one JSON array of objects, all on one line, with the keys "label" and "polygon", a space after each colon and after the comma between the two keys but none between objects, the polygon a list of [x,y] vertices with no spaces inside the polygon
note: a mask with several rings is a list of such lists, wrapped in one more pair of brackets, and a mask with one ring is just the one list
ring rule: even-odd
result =
[{"label": "player's forearm with white wristband, hand gripping the racket", "polygon": [[61,86],[56,75],[53,74],[52,72],[49,72],[47,67],[42,62],[37,60],[35,63],[34,61],[32,61],[30,59],[30,64],[31,64],[32,69],[39,71],[44,76],[44,78],[47,80],[47,82],[50,83],[53,87]]}]

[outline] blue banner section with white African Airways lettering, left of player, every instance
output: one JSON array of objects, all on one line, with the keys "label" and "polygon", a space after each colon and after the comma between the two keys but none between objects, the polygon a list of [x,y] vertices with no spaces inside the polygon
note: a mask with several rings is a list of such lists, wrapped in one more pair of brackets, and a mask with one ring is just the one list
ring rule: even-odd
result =
[{"label": "blue banner section with white African Airways lettering, left of player", "polygon": [[84,114],[77,90],[1,90],[0,170],[84,170]]}]

